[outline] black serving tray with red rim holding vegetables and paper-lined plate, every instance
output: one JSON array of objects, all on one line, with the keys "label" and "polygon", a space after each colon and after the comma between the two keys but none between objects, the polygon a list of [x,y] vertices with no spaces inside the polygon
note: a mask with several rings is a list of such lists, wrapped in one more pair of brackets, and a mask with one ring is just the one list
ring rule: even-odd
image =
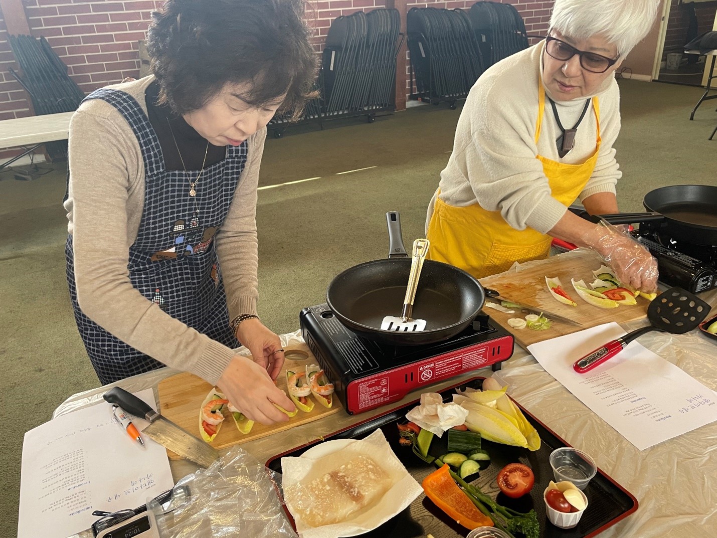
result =
[{"label": "black serving tray with red rim holding vegetables and paper-lined plate", "polygon": [[[460,387],[472,387],[480,389],[483,385],[483,377],[470,379],[455,387],[451,387],[441,395],[445,402],[452,400],[455,389]],[[429,466],[414,455],[410,447],[399,445],[397,422],[404,421],[406,413],[415,407],[419,400],[415,400],[404,407],[387,412],[385,415],[373,417],[363,423],[353,425],[351,428],[339,430],[332,435],[326,436],[323,441],[315,440],[313,443],[293,448],[288,452],[272,456],[267,461],[267,467],[272,471],[281,473],[281,458],[283,456],[300,456],[309,448],[327,440],[335,439],[363,439],[367,435],[373,433],[376,428],[381,428],[386,440],[389,441],[394,453],[404,464],[407,471],[421,483],[423,479],[436,470],[435,466]],[[545,503],[543,502],[543,490],[548,486],[549,481],[553,480],[553,471],[551,469],[548,458],[550,453],[562,446],[569,446],[563,439],[553,433],[549,428],[543,425],[536,417],[533,417],[521,405],[523,414],[526,415],[528,421],[538,430],[541,438],[541,448],[535,452],[531,452],[527,448],[520,448],[498,443],[491,443],[483,440],[483,448],[490,454],[490,466],[480,471],[480,478],[473,481],[473,484],[480,486],[480,489],[496,499],[499,504],[508,506],[518,511],[526,512],[531,508],[535,509],[538,514],[538,522],[541,525],[541,537],[545,538],[587,538],[593,537],[607,529],[611,525],[619,522],[625,516],[632,514],[637,510],[637,499],[630,494],[625,488],[607,476],[600,469],[592,478],[587,488],[584,490],[588,499],[588,507],[580,519],[576,527],[572,529],[559,529],[549,522],[545,511]],[[446,447],[447,435],[442,438],[435,437],[431,443],[430,453],[432,456],[441,456],[447,452]],[[589,449],[587,450],[589,453]],[[531,490],[530,495],[521,497],[520,499],[510,499],[508,496],[500,493],[498,484],[495,482],[498,472],[508,463],[520,462],[533,469],[536,477],[535,486]],[[288,513],[290,521],[293,524],[293,518]],[[388,522],[371,532],[362,534],[365,538],[419,538],[432,534],[435,538],[458,538],[465,537],[468,529],[461,527],[445,515],[435,504],[427,499],[423,494],[419,495],[412,504],[397,516],[389,519]],[[518,534],[518,536],[521,536]]]}]

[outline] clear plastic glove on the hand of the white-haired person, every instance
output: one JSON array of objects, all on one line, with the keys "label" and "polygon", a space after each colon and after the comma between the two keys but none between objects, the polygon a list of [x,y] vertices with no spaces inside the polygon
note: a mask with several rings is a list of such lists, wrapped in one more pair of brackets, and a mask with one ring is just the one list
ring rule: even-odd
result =
[{"label": "clear plastic glove on the hand of the white-haired person", "polygon": [[631,235],[603,221],[583,239],[604,258],[621,283],[645,293],[657,291],[657,260]]}]

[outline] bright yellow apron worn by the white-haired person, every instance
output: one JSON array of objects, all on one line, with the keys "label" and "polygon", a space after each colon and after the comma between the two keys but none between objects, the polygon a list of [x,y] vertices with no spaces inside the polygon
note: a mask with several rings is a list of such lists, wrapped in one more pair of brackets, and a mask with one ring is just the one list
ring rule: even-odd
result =
[{"label": "bright yellow apron worn by the white-haired person", "polygon": [[[536,144],[545,109],[545,90],[541,82],[538,82],[538,88]],[[583,164],[564,164],[536,156],[543,164],[552,196],[566,207],[575,202],[592,176],[600,151],[602,139],[597,97],[592,98],[592,106],[597,122],[597,141],[592,156]],[[529,227],[514,229],[505,222],[500,211],[486,211],[479,204],[455,207],[438,197],[428,225],[428,239],[431,242],[430,260],[450,263],[475,278],[502,273],[514,262],[546,258],[552,240],[549,235]]]}]

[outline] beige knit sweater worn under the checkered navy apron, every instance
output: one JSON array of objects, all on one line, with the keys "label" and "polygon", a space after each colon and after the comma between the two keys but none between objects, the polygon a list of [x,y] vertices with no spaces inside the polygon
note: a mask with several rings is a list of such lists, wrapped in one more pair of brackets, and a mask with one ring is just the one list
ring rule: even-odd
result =
[{"label": "beige knit sweater worn under the checkered navy apron", "polygon": [[[147,112],[153,77],[110,86],[132,95]],[[215,236],[229,318],[257,311],[256,204],[266,129],[249,138],[247,162],[227,219]],[[75,255],[82,312],[126,344],[170,367],[216,384],[234,357],[164,313],[129,278],[129,247],[136,240],[145,193],[139,143],[118,111],[103,100],[83,103],[70,121],[70,197],[67,230]]]}]

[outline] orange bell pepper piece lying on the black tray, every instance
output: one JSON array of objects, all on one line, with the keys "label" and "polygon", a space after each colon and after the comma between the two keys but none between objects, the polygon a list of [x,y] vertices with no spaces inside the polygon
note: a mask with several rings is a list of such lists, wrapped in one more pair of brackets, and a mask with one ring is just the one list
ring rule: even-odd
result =
[{"label": "orange bell pepper piece lying on the black tray", "polygon": [[478,510],[473,501],[453,481],[448,473],[447,463],[424,478],[421,486],[426,496],[436,506],[466,529],[493,527],[490,517]]}]

